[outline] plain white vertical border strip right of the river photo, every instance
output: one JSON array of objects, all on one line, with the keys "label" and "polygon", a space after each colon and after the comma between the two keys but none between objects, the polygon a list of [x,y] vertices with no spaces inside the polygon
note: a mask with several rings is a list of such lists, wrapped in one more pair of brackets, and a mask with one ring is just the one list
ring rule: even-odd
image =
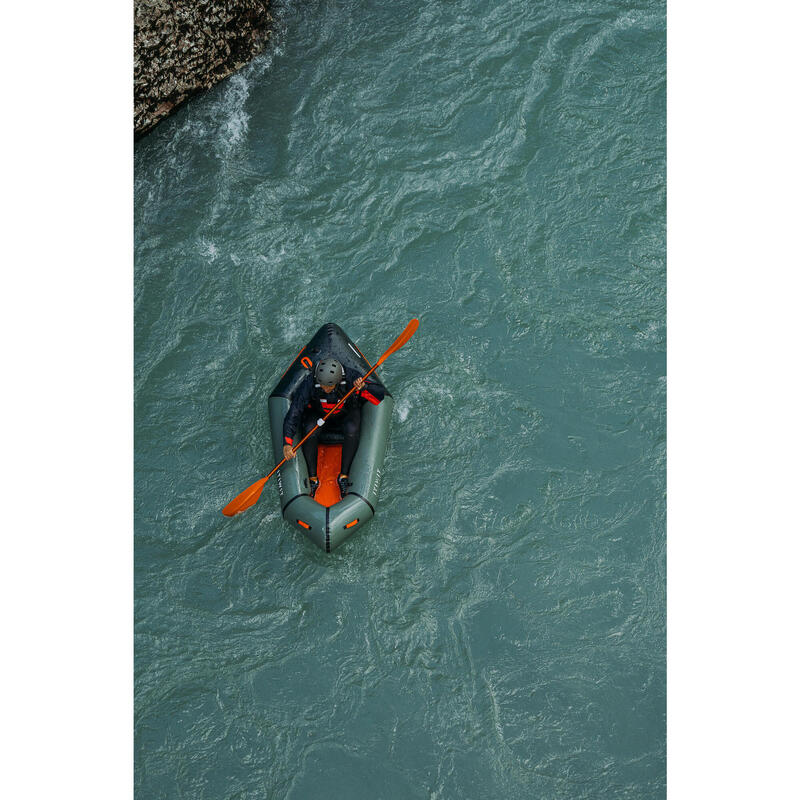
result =
[{"label": "plain white vertical border strip right of the river photo", "polygon": [[797,12],[668,11],[668,794],[796,791]]}]

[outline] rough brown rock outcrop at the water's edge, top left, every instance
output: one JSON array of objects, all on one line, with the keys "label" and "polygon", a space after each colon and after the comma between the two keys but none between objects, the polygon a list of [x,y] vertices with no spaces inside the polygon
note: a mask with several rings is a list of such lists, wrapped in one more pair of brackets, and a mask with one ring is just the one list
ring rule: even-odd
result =
[{"label": "rough brown rock outcrop at the water's edge, top left", "polygon": [[134,0],[134,135],[260,53],[269,39],[269,6],[269,0]]}]

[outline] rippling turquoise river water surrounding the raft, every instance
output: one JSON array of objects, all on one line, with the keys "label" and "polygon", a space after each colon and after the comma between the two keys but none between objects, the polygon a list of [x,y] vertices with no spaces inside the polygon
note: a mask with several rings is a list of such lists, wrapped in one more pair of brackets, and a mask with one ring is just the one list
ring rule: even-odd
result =
[{"label": "rippling turquoise river water surrounding the raft", "polygon": [[[288,3],[135,149],[138,798],[665,796],[665,8]],[[396,399],[325,554],[266,401]]]}]

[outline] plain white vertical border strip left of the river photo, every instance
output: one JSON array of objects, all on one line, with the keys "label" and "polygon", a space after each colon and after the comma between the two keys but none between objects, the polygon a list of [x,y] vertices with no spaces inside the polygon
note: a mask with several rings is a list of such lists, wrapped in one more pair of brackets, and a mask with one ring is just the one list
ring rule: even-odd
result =
[{"label": "plain white vertical border strip left of the river photo", "polygon": [[4,797],[133,794],[132,20],[3,20]]}]

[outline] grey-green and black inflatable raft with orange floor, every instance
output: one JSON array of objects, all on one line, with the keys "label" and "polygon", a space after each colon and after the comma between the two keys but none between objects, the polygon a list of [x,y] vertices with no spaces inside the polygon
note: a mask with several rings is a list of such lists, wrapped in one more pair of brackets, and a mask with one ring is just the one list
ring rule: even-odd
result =
[{"label": "grey-green and black inflatable raft with orange floor", "polygon": [[[335,358],[362,375],[371,369],[358,346],[338,325],[332,322],[323,325],[297,354],[269,396],[269,424],[276,463],[283,459],[283,418],[289,410],[292,395],[306,375],[313,374],[317,361],[325,357]],[[377,371],[372,373],[370,380],[384,386]],[[302,448],[297,451],[297,457],[284,464],[275,476],[283,518],[327,553],[375,515],[394,407],[391,394],[385,386],[384,389],[386,395],[378,405],[359,401],[364,403],[361,434],[350,468],[351,486],[344,497],[336,484],[342,463],[342,436],[326,430],[327,426],[315,434],[319,436],[317,476],[320,486],[313,498],[309,493],[308,470]],[[298,431],[295,445],[301,437],[302,432]]]}]

